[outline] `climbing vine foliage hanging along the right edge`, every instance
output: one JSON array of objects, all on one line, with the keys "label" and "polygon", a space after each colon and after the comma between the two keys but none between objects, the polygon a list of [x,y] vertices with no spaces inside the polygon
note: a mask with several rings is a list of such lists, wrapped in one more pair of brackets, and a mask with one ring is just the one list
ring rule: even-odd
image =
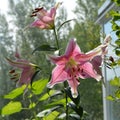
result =
[{"label": "climbing vine foliage hanging along the right edge", "polygon": [[[112,0],[114,3],[116,3],[117,7],[120,7],[120,1],[119,0]],[[115,68],[118,68],[120,66],[120,11],[118,10],[112,10],[110,11],[110,15],[112,17],[111,24],[112,24],[112,30],[115,32],[117,36],[117,40],[115,40],[115,43],[113,45],[114,51],[116,56],[118,56],[117,59],[114,59],[113,57],[109,58],[108,65],[115,71]],[[117,76],[115,73],[115,77],[110,80],[110,85],[114,87],[113,95],[107,96],[108,100],[111,101],[119,101],[120,100],[120,76]]]}]

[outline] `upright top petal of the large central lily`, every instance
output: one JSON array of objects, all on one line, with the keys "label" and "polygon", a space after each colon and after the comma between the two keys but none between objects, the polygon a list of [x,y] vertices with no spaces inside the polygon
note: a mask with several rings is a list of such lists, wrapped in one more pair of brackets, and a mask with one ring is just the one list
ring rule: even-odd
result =
[{"label": "upright top petal of the large central lily", "polygon": [[76,56],[77,54],[80,54],[81,50],[79,48],[79,46],[77,45],[77,43],[74,41],[74,39],[71,39],[68,43],[68,46],[66,48],[65,51],[65,56],[69,57],[69,56]]}]

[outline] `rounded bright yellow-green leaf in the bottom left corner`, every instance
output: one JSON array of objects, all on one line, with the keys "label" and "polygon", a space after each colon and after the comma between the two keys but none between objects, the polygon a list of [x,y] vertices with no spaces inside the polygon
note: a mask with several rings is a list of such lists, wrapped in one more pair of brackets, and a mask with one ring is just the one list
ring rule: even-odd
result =
[{"label": "rounded bright yellow-green leaf in the bottom left corner", "polygon": [[22,109],[22,105],[20,102],[9,102],[7,105],[5,105],[2,110],[1,110],[1,114],[2,115],[10,115],[16,112],[20,112]]}]

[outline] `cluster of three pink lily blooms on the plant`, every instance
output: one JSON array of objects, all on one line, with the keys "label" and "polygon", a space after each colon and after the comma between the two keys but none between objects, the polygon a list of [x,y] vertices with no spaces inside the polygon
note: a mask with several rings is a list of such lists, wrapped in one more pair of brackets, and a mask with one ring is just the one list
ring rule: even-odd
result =
[{"label": "cluster of three pink lily blooms on the plant", "polygon": [[[40,29],[55,29],[56,10],[61,3],[56,4],[50,11],[43,7],[35,8],[31,17],[37,17],[30,27],[38,27]],[[57,38],[57,37],[56,37]],[[58,40],[56,40],[58,43]],[[56,64],[52,71],[52,77],[47,87],[52,88],[55,84],[67,80],[73,98],[78,96],[77,87],[80,84],[80,78],[94,78],[97,81],[102,79],[100,66],[107,54],[107,48],[110,42],[110,36],[107,36],[104,43],[95,49],[83,53],[74,39],[71,39],[66,48],[65,54],[61,56],[48,55],[50,61]],[[22,70],[20,75],[20,84],[29,84],[34,75],[37,65],[27,60],[20,59],[20,55],[16,53],[16,61],[7,58],[10,65]]]}]

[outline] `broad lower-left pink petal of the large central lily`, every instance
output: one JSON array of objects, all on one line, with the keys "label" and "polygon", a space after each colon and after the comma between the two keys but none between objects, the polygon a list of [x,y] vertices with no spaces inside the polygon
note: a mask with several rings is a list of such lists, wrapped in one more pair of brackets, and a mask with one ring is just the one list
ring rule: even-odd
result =
[{"label": "broad lower-left pink petal of the large central lily", "polygon": [[68,73],[64,70],[65,66],[60,65],[56,66],[52,71],[52,78],[48,83],[47,87],[52,88],[55,84],[64,82],[67,79],[70,79]]}]

